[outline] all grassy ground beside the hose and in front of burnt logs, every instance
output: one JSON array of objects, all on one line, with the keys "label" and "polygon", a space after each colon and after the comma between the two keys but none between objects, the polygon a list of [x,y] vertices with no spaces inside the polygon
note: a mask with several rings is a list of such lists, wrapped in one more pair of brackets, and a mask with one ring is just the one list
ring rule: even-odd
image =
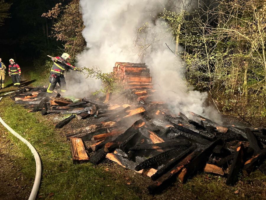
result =
[{"label": "all grassy ground beside the hose and in front of burnt logs", "polygon": [[[30,73],[32,86],[43,85],[47,78]],[[7,79],[7,85],[11,83]],[[15,87],[0,90],[0,95],[13,91]],[[227,186],[226,178],[200,174],[186,184],[174,183],[162,194],[147,193],[150,179],[126,171],[122,167],[106,170],[107,164],[97,167],[90,163],[72,164],[69,143],[53,122],[38,113],[27,113],[21,105],[5,97],[0,102],[0,116],[16,132],[25,137],[38,151],[42,160],[42,180],[39,189],[41,199],[265,199],[266,176],[259,171],[249,176],[242,175],[235,186]],[[64,116],[67,117],[67,116]],[[2,126],[1,126],[2,128]],[[9,153],[15,157],[15,167],[27,177],[30,186],[35,177],[35,161],[30,150],[12,134],[5,138]],[[126,185],[129,176],[131,185]],[[134,178],[133,178],[134,176]],[[127,182],[127,181],[126,181]],[[49,197],[49,193],[54,193]]]}]

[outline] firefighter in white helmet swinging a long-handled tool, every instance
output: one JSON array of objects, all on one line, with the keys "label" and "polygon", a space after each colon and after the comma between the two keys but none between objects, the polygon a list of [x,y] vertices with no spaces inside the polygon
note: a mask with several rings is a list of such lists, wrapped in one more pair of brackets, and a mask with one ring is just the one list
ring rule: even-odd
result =
[{"label": "firefighter in white helmet swinging a long-handled tool", "polygon": [[[50,71],[50,76],[49,76],[50,84],[47,88],[48,93],[53,93],[53,90],[56,87],[56,83],[59,84],[61,92],[67,92],[67,84],[64,77],[65,70],[71,69],[71,70],[80,71],[79,68],[76,68],[67,62],[69,58],[70,55],[68,55],[67,53],[63,53],[62,56],[60,57],[52,58],[53,67]],[[59,60],[61,62],[59,62]]]}]

